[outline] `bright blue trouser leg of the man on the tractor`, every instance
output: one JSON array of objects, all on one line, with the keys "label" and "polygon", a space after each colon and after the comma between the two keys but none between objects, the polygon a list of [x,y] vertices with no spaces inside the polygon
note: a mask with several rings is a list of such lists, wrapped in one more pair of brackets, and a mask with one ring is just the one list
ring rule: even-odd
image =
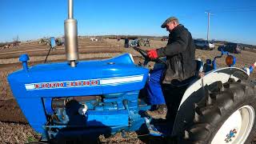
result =
[{"label": "bright blue trouser leg of the man on the tractor", "polygon": [[165,68],[152,70],[149,81],[146,83],[147,98],[150,105],[166,104],[166,100],[162,93],[162,75]]}]

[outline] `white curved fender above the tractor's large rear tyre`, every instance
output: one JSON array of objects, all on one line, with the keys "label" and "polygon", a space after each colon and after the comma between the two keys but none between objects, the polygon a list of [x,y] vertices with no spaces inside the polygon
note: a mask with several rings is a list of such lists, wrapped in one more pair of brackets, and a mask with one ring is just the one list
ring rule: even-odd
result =
[{"label": "white curved fender above the tractor's large rear tyre", "polygon": [[225,67],[218,70],[211,70],[205,74],[204,77],[191,82],[190,86],[186,89],[182,96],[182,100],[178,106],[178,111],[174,120],[172,136],[177,136],[184,131],[186,122],[190,122],[194,117],[194,104],[198,102],[205,95],[204,86],[209,86],[214,82],[221,81],[222,83],[228,82],[229,78],[246,80],[249,75],[237,67]]}]

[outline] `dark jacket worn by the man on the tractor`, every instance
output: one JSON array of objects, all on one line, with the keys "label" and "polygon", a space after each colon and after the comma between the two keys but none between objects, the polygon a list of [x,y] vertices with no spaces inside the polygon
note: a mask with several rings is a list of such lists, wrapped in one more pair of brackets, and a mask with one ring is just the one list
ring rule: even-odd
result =
[{"label": "dark jacket worn by the man on the tractor", "polygon": [[194,40],[184,26],[176,26],[169,34],[167,45],[157,52],[158,57],[166,57],[167,62],[163,83],[171,83],[173,79],[181,82],[195,74]]}]

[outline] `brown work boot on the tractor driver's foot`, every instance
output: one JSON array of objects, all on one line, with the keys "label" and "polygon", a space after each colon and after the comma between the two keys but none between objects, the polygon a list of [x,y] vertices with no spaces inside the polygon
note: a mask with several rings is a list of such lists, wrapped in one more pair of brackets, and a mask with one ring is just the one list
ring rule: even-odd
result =
[{"label": "brown work boot on the tractor driver's foot", "polygon": [[167,106],[166,105],[158,105],[158,108],[156,110],[146,110],[145,112],[146,116],[149,116],[150,118],[154,119],[166,119],[167,114]]}]

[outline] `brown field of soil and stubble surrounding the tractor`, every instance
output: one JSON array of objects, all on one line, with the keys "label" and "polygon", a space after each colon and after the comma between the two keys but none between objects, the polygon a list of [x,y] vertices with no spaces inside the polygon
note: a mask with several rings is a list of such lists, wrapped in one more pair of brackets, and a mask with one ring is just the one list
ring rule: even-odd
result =
[{"label": "brown field of soil and stubble surrounding the tractor", "polygon": [[[142,46],[142,49],[153,49],[166,46],[166,42],[152,40],[150,47]],[[134,56],[135,63],[142,61],[142,57],[137,51],[131,48],[124,48],[124,42],[116,39],[102,39],[98,42],[90,42],[88,38],[80,38],[78,40],[78,50],[80,60],[111,58],[123,53],[130,53]],[[34,130],[26,122],[22,111],[19,109],[14,100],[10,86],[6,80],[8,74],[15,70],[21,69],[22,64],[18,62],[20,54],[28,54],[30,56],[29,66],[43,63],[48,53],[49,46],[38,43],[22,43],[20,46],[11,49],[0,50],[0,143],[26,143],[37,141],[40,138]],[[214,58],[220,52],[215,50],[196,50],[196,58],[206,61],[206,58]],[[237,58],[237,67],[250,66],[256,62],[256,53],[243,50],[242,54],[234,54]],[[58,46],[55,50],[50,51],[47,62],[63,62],[66,61],[65,48]],[[218,66],[226,66],[225,58],[219,58]],[[250,76],[256,78],[256,70]],[[128,138],[117,138],[106,140],[102,138],[102,142],[107,143],[143,143],[136,138],[137,135],[130,134]]]}]

